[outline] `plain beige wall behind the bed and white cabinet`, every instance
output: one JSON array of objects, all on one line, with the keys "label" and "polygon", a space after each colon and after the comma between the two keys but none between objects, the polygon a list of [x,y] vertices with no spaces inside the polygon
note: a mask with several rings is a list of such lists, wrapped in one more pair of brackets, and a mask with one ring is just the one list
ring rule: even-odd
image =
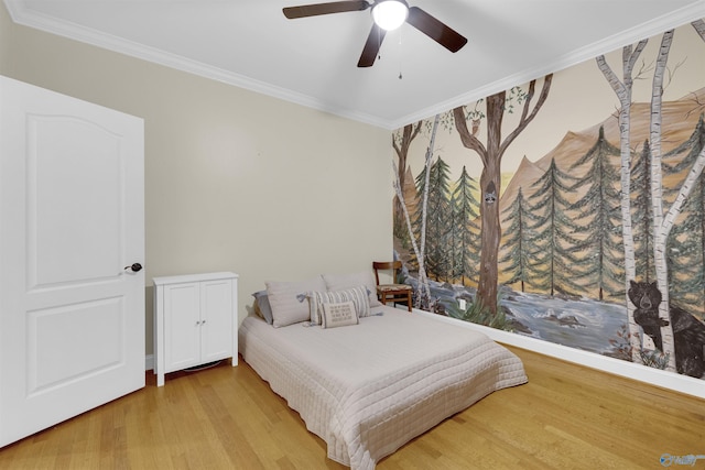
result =
[{"label": "plain beige wall behind the bed and white cabinet", "polygon": [[0,74],[144,119],[147,352],[154,276],[265,280],[371,269],[392,253],[391,133],[11,22]]}]

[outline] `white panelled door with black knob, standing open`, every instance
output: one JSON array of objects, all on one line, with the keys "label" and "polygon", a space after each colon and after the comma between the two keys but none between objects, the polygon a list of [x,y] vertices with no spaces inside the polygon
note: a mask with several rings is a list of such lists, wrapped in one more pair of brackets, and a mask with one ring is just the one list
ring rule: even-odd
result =
[{"label": "white panelled door with black knob, standing open", "polygon": [[0,77],[0,446],[144,386],[143,141]]}]

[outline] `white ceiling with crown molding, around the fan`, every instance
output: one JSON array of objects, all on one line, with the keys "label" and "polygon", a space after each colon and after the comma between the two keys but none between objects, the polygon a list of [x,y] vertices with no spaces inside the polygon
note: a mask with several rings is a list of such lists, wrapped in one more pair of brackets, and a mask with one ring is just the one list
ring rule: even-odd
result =
[{"label": "white ceiling with crown molding, around the fan", "polygon": [[288,20],[283,7],[316,1],[4,1],[17,23],[386,129],[705,18],[705,0],[408,0],[468,44],[453,54],[405,24],[358,68],[369,10]]}]

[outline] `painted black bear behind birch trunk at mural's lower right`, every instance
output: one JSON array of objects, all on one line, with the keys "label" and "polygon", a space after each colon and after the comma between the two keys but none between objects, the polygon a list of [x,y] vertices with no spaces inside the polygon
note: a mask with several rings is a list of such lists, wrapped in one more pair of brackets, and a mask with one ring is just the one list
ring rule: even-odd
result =
[{"label": "painted black bear behind birch trunk at mural's lower right", "polygon": [[[629,299],[637,307],[634,321],[662,350],[661,327],[668,326],[669,321],[659,318],[659,304],[663,299],[661,292],[655,282],[630,283]],[[669,313],[673,323],[675,369],[679,373],[699,379],[705,373],[705,325],[675,305],[670,306]]]}]

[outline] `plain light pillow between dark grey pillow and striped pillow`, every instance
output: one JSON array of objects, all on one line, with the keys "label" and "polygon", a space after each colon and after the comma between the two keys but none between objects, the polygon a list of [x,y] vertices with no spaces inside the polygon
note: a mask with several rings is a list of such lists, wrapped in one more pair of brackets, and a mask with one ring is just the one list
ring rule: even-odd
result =
[{"label": "plain light pillow between dark grey pillow and striped pillow", "polygon": [[311,317],[306,293],[325,289],[323,277],[308,281],[274,282],[268,281],[267,296],[272,307],[272,326],[274,328],[306,321]]}]

